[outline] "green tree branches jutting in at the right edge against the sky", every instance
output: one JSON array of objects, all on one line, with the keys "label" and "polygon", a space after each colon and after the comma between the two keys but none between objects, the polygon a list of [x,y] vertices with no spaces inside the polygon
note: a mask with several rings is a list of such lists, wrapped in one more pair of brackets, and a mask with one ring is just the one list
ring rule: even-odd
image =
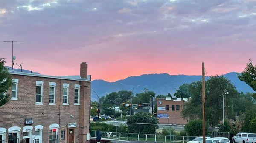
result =
[{"label": "green tree branches jutting in at the right edge against the sky", "polygon": [[[245,67],[244,71],[241,74],[238,74],[238,78],[256,91],[256,66],[253,66],[251,59],[249,59],[249,62],[246,65],[247,67]],[[256,100],[256,93],[253,93],[252,96]]]}]

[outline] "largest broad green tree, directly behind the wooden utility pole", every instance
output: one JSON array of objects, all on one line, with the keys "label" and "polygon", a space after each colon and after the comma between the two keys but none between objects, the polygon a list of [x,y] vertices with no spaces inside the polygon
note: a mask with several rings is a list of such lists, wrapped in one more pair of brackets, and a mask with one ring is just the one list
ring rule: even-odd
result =
[{"label": "largest broad green tree, directly behind the wooden utility pole", "polygon": [[[224,76],[211,76],[205,82],[205,113],[206,121],[212,126],[218,126],[222,120],[222,94],[224,90],[229,92],[225,96],[225,111],[226,118],[234,118],[235,112],[233,111],[233,99],[239,96],[236,87],[231,83],[230,80]],[[192,99],[183,105],[183,110],[181,111],[183,117],[194,119],[202,118],[202,83],[201,81],[192,82],[189,86],[189,92],[192,95]]]}]

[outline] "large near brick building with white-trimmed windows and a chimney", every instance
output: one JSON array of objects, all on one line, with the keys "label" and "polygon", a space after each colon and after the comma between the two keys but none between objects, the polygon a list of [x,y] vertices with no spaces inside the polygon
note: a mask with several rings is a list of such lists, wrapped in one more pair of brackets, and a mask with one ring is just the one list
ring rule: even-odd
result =
[{"label": "large near brick building with white-trimmed windows and a chimney", "polygon": [[9,71],[10,100],[0,107],[0,143],[83,143],[89,140],[91,79]]}]

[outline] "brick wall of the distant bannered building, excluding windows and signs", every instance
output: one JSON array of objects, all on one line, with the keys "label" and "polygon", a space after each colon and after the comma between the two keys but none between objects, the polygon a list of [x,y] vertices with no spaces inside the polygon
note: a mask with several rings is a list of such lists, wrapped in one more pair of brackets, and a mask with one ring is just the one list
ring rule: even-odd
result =
[{"label": "brick wall of the distant bannered building, excluding windows and signs", "polygon": [[[159,104],[159,101],[162,102],[162,104]],[[187,123],[187,119],[184,119],[181,117],[181,111],[182,111],[182,106],[183,106],[184,101],[173,101],[173,100],[165,100],[165,99],[157,99],[157,107],[166,107],[166,105],[169,105],[169,111],[164,110],[164,111],[159,111],[157,110],[157,115],[158,114],[168,114],[168,118],[158,118],[160,123],[164,124],[180,124],[184,125]],[[172,111],[172,105],[175,106],[175,110]],[[176,110],[176,105],[180,105],[180,110]]]}]

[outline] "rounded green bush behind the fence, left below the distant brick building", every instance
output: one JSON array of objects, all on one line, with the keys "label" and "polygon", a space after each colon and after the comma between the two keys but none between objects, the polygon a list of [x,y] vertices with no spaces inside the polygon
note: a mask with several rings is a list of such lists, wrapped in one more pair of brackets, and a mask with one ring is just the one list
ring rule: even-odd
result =
[{"label": "rounded green bush behind the fence, left below the distant brick building", "polygon": [[140,134],[155,134],[158,125],[130,124],[130,123],[152,123],[157,124],[158,119],[153,114],[147,112],[138,112],[127,118],[128,132]]}]

